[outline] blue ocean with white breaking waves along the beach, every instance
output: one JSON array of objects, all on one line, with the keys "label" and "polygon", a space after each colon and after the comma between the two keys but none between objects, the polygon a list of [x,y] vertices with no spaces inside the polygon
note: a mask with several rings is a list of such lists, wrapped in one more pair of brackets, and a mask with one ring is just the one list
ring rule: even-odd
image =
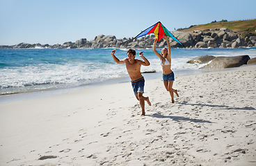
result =
[{"label": "blue ocean with white breaking waves along the beach", "polygon": [[[126,78],[125,64],[115,64],[111,57],[113,48],[97,49],[0,49],[0,95],[72,89]],[[160,52],[160,49],[157,49]],[[137,49],[150,61],[141,71],[155,70],[160,75],[159,59],[152,49]],[[172,48],[172,69],[175,75],[200,71],[205,64],[187,64],[193,57],[201,55],[256,57],[253,48]],[[116,57],[127,57],[127,49],[117,49]],[[150,74],[147,74],[150,75]]]}]

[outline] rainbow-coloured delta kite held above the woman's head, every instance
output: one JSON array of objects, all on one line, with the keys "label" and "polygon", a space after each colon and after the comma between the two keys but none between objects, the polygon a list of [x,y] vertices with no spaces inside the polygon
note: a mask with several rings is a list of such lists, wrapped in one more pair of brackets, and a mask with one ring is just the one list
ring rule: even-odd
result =
[{"label": "rainbow-coloured delta kite held above the woman's head", "polygon": [[[157,42],[159,42],[163,38],[163,35],[166,35],[168,37],[172,37],[179,44],[182,44],[181,42],[179,42],[179,40],[175,36],[173,36],[172,33],[169,32],[169,30],[167,30],[167,28],[165,26],[163,26],[163,24],[161,24],[160,21],[158,21],[157,24],[150,26],[150,28],[143,30],[142,33],[138,34],[134,38],[136,39],[138,37],[149,35],[150,33],[154,33],[154,35],[157,37]],[[183,44],[182,44],[182,46],[183,46]]]}]

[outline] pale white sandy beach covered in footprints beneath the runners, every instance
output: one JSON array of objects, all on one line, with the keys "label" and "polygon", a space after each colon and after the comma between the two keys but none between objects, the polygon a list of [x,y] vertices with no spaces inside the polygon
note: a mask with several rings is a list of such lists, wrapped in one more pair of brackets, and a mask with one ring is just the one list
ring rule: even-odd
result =
[{"label": "pale white sandy beach covered in footprints beneath the runners", "polygon": [[256,66],[175,79],[0,104],[0,165],[256,165]]}]

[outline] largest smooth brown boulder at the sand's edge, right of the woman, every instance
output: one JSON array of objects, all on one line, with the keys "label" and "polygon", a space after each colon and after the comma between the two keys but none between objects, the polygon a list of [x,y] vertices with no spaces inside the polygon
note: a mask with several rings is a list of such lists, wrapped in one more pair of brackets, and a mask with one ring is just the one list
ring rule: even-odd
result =
[{"label": "largest smooth brown boulder at the sand's edge, right of the woman", "polygon": [[233,68],[247,64],[250,57],[248,55],[241,55],[236,57],[215,57],[210,64],[202,68]]}]

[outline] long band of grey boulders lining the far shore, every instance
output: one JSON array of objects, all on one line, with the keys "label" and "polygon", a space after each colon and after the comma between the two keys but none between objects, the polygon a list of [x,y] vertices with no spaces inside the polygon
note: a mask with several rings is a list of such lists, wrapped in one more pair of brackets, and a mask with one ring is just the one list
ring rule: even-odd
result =
[{"label": "long band of grey boulders lining the far shore", "polygon": [[[190,33],[181,31],[172,32],[186,48],[239,48],[256,46],[256,36],[241,37],[228,28],[195,30]],[[173,48],[183,48],[173,39],[169,39]],[[14,46],[0,46],[0,48],[152,48],[154,35],[141,37],[139,39],[123,38],[116,39],[113,35],[98,35],[95,39],[79,39],[77,42],[65,42],[64,44],[26,44],[20,43]],[[161,39],[158,48],[166,47],[166,41]]]}]

